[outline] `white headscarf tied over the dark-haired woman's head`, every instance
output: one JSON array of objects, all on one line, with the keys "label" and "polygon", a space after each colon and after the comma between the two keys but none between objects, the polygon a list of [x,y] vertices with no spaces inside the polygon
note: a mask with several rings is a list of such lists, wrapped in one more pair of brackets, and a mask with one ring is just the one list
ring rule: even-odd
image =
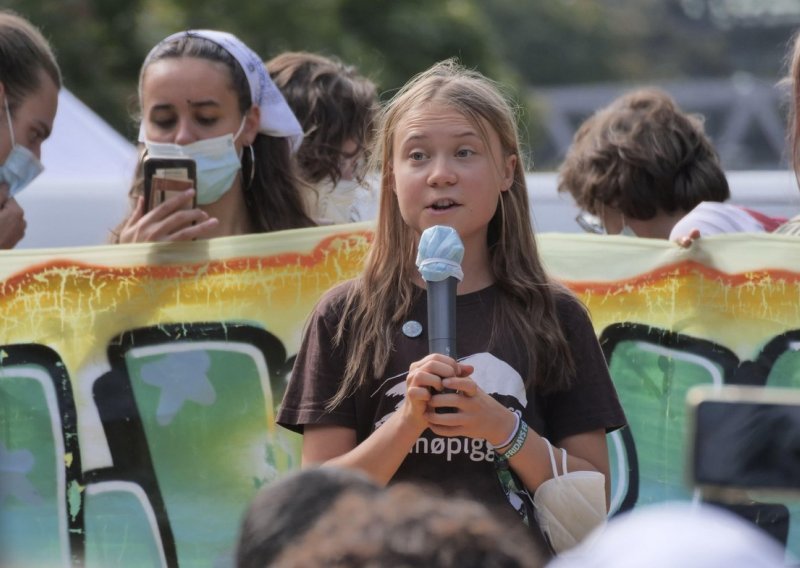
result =
[{"label": "white headscarf tied over the dark-haired woman's head", "polygon": [[[289,138],[292,151],[296,152],[303,141],[303,128],[286,103],[278,87],[272,82],[264,63],[255,51],[247,47],[242,40],[233,34],[216,30],[187,30],[174,33],[161,40],[145,58],[145,66],[156,49],[166,42],[184,37],[200,37],[207,39],[230,53],[247,77],[250,85],[250,96],[253,104],[261,109],[261,123],[258,131],[268,136]],[[140,130],[140,137],[143,134]]]}]

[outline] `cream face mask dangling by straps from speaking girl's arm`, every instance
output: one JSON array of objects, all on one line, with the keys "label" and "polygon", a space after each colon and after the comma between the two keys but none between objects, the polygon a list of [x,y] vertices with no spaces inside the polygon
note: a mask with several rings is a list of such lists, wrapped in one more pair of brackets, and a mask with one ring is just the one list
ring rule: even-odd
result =
[{"label": "cream face mask dangling by straps from speaking girl's arm", "polygon": [[553,478],[533,494],[539,528],[556,554],[569,550],[606,522],[605,476],[598,471],[567,471],[567,452],[561,449],[558,475],[553,446],[547,440]]}]

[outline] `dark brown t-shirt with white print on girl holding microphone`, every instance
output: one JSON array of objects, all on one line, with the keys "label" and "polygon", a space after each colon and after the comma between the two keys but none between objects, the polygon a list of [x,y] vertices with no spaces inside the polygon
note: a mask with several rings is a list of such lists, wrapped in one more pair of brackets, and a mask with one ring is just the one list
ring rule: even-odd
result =
[{"label": "dark brown t-shirt with white print on girl holding microphone", "polygon": [[[421,293],[406,320],[418,322],[422,333],[413,337],[402,327],[395,330],[385,375],[327,411],[325,405],[336,393],[345,368],[347,348],[334,349],[331,340],[343,317],[342,300],[349,286],[345,283],[329,291],[311,315],[277,422],[296,432],[302,432],[305,424],[353,428],[360,443],[400,406],[409,365],[428,354],[427,302]],[[475,367],[472,378],[485,392],[520,411],[532,429],[554,444],[574,434],[599,428],[610,432],[625,424],[597,337],[576,298],[561,295],[557,311],[577,372],[569,390],[548,396],[538,394],[533,386],[525,387],[526,360],[513,348],[514,338],[498,337],[487,351],[491,314],[498,301],[494,286],[456,298],[456,350],[461,361]],[[494,452],[485,440],[446,438],[426,430],[392,481],[432,483],[447,494],[508,507],[493,462]]]}]

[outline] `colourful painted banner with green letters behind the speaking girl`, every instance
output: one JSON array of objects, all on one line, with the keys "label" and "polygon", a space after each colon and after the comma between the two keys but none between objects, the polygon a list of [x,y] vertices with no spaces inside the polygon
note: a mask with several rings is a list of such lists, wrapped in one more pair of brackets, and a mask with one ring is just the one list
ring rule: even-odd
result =
[{"label": "colourful painted banner with green letters behind the speaking girl", "polygon": [[[0,565],[232,565],[249,500],[299,467],[274,415],[306,315],[370,235],[0,255]],[[589,307],[630,422],[609,438],[613,511],[692,497],[691,386],[800,388],[796,238],[539,243]],[[787,505],[769,512],[798,543]]]}]

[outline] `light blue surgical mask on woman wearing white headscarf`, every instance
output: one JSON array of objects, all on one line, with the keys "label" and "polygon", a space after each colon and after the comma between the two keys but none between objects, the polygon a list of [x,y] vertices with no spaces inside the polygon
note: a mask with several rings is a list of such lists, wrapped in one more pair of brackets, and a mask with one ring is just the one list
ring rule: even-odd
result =
[{"label": "light blue surgical mask on woman wearing white headscarf", "polygon": [[191,158],[197,167],[197,203],[219,201],[233,185],[242,167],[235,140],[244,128],[244,119],[236,134],[225,134],[191,144],[169,144],[145,140],[147,154],[156,158]]}]

